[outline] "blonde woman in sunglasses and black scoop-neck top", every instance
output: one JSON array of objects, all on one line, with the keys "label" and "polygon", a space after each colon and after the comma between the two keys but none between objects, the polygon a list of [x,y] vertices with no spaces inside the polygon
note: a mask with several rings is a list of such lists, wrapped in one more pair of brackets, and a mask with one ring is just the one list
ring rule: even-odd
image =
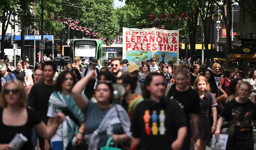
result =
[{"label": "blonde woman in sunglasses and black scoop-neck top", "polygon": [[55,133],[64,114],[58,113],[47,126],[35,110],[26,107],[26,95],[23,84],[18,80],[6,83],[0,94],[0,149],[12,150],[9,145],[16,134],[22,134],[27,142],[21,150],[33,150],[31,143],[32,128],[39,136],[49,139]]}]

